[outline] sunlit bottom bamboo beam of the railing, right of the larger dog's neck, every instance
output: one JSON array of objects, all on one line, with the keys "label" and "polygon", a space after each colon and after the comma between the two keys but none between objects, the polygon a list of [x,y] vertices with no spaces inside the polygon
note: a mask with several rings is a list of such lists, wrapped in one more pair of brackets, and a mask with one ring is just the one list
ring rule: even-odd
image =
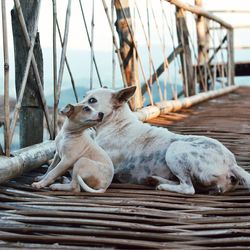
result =
[{"label": "sunlit bottom bamboo beam of the railing, right of the larger dog's neck", "polygon": [[186,97],[180,100],[158,102],[155,104],[155,106],[148,106],[137,111],[136,116],[141,121],[148,121],[150,119],[156,118],[160,114],[166,114],[181,110],[183,108],[189,108],[200,102],[228,94],[236,90],[238,87],[239,86],[230,86],[219,90],[211,90],[208,92],[199,93],[197,95]]}]

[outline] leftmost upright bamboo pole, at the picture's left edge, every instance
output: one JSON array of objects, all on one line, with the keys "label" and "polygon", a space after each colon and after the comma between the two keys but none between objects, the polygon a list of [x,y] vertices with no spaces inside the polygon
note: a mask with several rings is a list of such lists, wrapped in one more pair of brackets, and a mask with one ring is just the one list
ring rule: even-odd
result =
[{"label": "leftmost upright bamboo pole, at the picture's left edge", "polygon": [[9,53],[5,0],[1,1],[4,54],[4,150],[10,156]]}]

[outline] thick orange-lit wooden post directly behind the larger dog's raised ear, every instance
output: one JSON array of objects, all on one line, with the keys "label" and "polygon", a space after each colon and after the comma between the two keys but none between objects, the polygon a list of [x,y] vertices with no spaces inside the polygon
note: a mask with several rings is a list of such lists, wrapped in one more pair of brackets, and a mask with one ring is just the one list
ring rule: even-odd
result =
[{"label": "thick orange-lit wooden post directly behind the larger dog's raised ear", "polygon": [[[115,25],[120,39],[120,52],[123,60],[123,68],[125,71],[126,82],[128,86],[137,86],[134,99],[130,103],[131,108],[135,110],[141,108],[143,106],[143,103],[138,74],[137,56],[133,44],[133,34],[131,34],[130,32],[132,30],[132,20],[129,9],[129,1],[115,0],[114,5],[117,16]],[[126,16],[124,16],[124,14]],[[128,27],[128,25],[130,27]]]}]

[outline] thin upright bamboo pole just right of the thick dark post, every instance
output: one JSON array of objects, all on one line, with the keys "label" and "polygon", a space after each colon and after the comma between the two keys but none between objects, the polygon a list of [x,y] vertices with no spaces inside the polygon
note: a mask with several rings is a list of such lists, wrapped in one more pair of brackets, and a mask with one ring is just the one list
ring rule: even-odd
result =
[{"label": "thin upright bamboo pole just right of the thick dark post", "polygon": [[57,7],[56,0],[52,0],[53,4],[53,85],[54,85],[54,118],[53,118],[53,139],[56,138],[57,135],[57,46],[56,46],[56,22],[57,22]]}]

